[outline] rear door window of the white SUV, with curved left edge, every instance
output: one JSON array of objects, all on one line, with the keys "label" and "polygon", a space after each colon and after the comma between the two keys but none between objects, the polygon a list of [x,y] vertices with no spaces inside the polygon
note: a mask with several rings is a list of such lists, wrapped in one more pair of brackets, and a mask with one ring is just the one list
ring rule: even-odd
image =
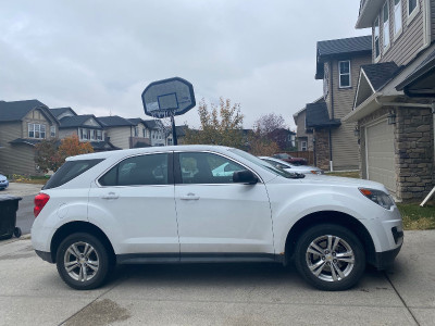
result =
[{"label": "rear door window of the white SUV, with curved left edge", "polygon": [[128,158],[105,173],[102,186],[167,185],[169,154],[148,154]]}]

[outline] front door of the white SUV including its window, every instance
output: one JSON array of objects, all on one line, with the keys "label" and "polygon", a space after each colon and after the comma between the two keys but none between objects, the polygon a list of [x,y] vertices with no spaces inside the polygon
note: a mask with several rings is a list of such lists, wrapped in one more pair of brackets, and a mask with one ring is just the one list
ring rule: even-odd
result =
[{"label": "front door of the white SUV including its window", "polygon": [[[233,183],[233,173],[247,167],[217,153],[175,155],[182,261],[274,253],[271,209],[261,180],[256,185]],[[225,173],[219,173],[221,170]]]}]

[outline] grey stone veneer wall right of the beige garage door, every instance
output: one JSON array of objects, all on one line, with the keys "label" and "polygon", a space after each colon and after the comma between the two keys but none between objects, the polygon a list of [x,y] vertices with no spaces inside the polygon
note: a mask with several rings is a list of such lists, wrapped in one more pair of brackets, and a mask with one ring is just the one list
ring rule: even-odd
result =
[{"label": "grey stone veneer wall right of the beige garage door", "polygon": [[421,200],[434,186],[434,131],[431,109],[396,110],[397,192],[403,200]]}]

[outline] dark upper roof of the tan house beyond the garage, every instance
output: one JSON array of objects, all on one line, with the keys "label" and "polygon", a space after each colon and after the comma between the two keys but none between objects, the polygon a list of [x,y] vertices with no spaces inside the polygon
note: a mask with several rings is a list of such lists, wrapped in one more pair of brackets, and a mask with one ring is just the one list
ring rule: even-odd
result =
[{"label": "dark upper roof of the tan house beyond the garage", "polygon": [[324,75],[323,63],[336,57],[349,57],[359,54],[371,54],[372,53],[372,36],[359,36],[350,38],[340,38],[318,41],[318,54],[316,54],[316,68],[315,79],[322,79]]}]

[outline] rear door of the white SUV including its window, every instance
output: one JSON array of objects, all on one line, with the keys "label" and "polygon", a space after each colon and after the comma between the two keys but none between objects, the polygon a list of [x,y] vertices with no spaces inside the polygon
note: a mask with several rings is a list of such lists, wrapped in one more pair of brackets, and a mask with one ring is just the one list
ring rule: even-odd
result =
[{"label": "rear door of the white SUV including its window", "polygon": [[113,166],[90,189],[88,215],[115,239],[121,260],[179,260],[172,153],[135,155]]}]

